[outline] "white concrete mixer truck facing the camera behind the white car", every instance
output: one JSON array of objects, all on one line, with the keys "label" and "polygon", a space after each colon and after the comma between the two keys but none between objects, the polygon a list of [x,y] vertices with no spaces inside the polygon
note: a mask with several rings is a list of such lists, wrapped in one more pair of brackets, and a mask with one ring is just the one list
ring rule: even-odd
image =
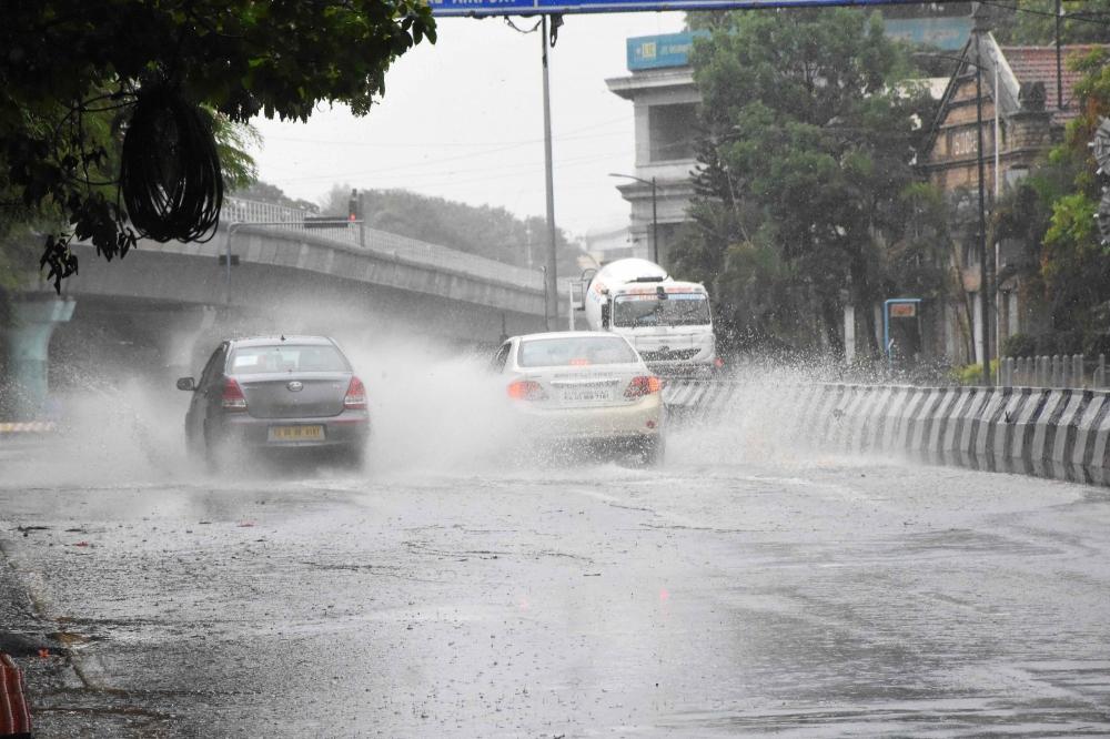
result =
[{"label": "white concrete mixer truck facing the camera behind the white car", "polygon": [[625,336],[654,372],[719,366],[709,294],[700,283],[678,282],[647,260],[624,259],[583,273],[579,295],[572,307],[585,314],[587,327]]}]

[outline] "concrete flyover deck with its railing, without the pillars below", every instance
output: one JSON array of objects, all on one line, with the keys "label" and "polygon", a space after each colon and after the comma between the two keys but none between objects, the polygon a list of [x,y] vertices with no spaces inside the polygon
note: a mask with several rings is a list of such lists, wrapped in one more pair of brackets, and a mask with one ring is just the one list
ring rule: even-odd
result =
[{"label": "concrete flyover deck with its railing, without the pillars below", "polygon": [[[511,333],[542,326],[538,272],[359,225],[305,230],[304,217],[303,211],[229,199],[206,243],[143,241],[111,264],[90,245],[78,245],[81,271],[64,294],[79,303],[391,318],[464,341],[495,340],[503,320]],[[229,253],[230,267],[220,263]]]}]

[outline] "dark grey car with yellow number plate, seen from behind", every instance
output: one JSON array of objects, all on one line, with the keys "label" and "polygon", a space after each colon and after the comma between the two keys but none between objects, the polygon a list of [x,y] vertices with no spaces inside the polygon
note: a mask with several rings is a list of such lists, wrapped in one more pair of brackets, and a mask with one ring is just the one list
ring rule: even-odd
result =
[{"label": "dark grey car with yellow number plate, seen from behind", "polygon": [[366,389],[331,338],[225,341],[191,391],[185,436],[213,466],[248,451],[311,448],[361,465],[370,435]]}]

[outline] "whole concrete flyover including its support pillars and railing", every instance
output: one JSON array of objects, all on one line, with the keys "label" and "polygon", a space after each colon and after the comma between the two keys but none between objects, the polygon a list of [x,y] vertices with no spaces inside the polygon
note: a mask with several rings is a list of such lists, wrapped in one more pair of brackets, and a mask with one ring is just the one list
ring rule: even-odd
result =
[{"label": "whole concrete flyover including its support pillars and railing", "polygon": [[231,334],[418,335],[473,345],[544,327],[539,272],[359,224],[306,229],[306,215],[228,199],[205,243],[141,241],[111,263],[75,244],[80,272],[61,298],[40,287],[17,305],[31,320],[4,337],[0,421],[41,417],[49,356],[79,356],[79,342],[87,348],[88,337],[105,333],[151,350],[162,368],[195,370],[198,342]]}]

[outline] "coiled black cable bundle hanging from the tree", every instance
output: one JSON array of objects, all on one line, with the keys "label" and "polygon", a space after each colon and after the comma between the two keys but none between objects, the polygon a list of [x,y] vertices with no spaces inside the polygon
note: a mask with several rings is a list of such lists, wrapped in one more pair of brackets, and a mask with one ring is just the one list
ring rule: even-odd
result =
[{"label": "coiled black cable bundle hanging from the tree", "polygon": [[223,205],[211,121],[163,83],[144,84],[123,136],[120,192],[142,236],[208,241]]}]

